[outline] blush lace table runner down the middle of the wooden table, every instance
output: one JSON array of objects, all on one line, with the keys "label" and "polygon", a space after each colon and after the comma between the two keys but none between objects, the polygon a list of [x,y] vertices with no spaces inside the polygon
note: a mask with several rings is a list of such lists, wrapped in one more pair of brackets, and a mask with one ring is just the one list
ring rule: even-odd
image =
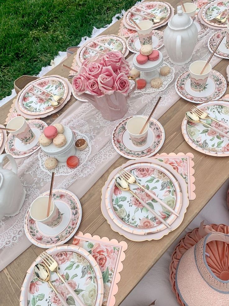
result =
[{"label": "blush lace table runner down the middle of the wooden table", "polygon": [[[195,47],[192,61],[206,60],[208,51],[208,39],[216,32],[208,30]],[[164,60],[169,62],[165,48],[161,48]],[[133,56],[129,57],[129,61]],[[218,57],[213,57],[212,66],[219,61]],[[172,65],[172,64],[171,64]],[[151,93],[133,93],[128,103],[128,112],[125,117],[133,114],[149,114],[157,101],[159,95],[162,96],[154,117],[160,118],[177,100],[179,95],[175,91],[175,80],[184,71],[189,69],[190,63],[183,66],[174,66],[175,79],[166,90]],[[101,177],[101,175],[119,158],[111,143],[111,134],[119,120],[107,121],[101,114],[87,102],[77,101],[55,123],[61,122],[69,128],[85,134],[91,143],[91,154],[81,168],[76,168],[68,176],[58,176],[55,178],[54,188],[68,189],[81,198],[87,190]],[[26,189],[26,199],[18,215],[14,217],[4,217],[0,221],[0,270],[19,256],[30,245],[24,234],[24,216],[32,203],[42,192],[49,190],[50,175],[39,167],[39,150],[29,157],[16,160],[18,165],[18,175],[24,188]],[[112,238],[112,237],[110,237]]]}]

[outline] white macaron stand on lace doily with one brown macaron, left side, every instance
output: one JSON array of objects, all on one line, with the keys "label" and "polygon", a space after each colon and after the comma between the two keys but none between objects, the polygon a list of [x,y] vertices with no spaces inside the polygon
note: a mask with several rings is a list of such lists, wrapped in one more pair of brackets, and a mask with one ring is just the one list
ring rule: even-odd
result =
[{"label": "white macaron stand on lace doily with one brown macaron, left side", "polygon": [[49,125],[40,135],[40,168],[50,175],[69,175],[73,168],[82,166],[91,153],[89,139],[60,123]]}]

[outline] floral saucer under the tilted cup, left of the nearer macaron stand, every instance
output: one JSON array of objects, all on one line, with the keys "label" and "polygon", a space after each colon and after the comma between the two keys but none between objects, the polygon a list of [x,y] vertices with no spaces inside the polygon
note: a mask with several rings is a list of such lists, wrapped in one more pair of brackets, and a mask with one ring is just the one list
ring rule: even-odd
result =
[{"label": "floral saucer under the tilted cup, left of the nearer macaron stand", "polygon": [[40,148],[38,139],[40,134],[43,133],[47,124],[44,121],[38,119],[28,120],[27,123],[35,134],[35,138],[32,142],[24,144],[21,140],[16,138],[15,135],[8,135],[5,151],[6,153],[11,154],[14,158],[29,156]]}]

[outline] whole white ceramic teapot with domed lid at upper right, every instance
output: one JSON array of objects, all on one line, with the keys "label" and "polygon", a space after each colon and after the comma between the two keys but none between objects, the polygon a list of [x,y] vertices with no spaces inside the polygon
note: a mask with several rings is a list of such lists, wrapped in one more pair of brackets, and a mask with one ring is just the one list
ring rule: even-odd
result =
[{"label": "whole white ceramic teapot with domed lid at upper right", "polygon": [[197,42],[198,31],[191,17],[184,14],[181,6],[177,14],[168,22],[164,33],[164,45],[170,61],[176,65],[184,65],[192,58]]}]

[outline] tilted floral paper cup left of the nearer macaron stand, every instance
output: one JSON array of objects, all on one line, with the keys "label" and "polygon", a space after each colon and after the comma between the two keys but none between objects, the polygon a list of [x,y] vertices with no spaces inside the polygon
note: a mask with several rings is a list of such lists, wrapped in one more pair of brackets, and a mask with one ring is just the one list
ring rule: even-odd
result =
[{"label": "tilted floral paper cup left of the nearer macaron stand", "polygon": [[24,144],[30,143],[35,139],[35,134],[30,129],[26,119],[22,116],[17,116],[10,120],[6,127],[8,129],[15,129],[15,131],[10,131],[10,133],[15,135]]}]

